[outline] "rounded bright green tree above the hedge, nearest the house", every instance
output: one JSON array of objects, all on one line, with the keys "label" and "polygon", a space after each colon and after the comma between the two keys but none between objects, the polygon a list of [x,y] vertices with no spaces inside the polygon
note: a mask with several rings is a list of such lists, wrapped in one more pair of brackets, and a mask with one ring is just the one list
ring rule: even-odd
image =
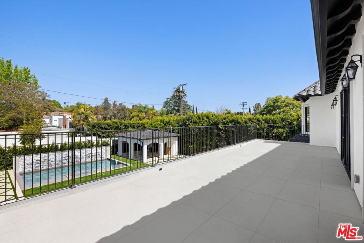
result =
[{"label": "rounded bright green tree above the hedge, nearest the house", "polygon": [[259,111],[261,115],[279,115],[301,112],[301,102],[288,96],[277,95],[267,98],[264,106]]}]

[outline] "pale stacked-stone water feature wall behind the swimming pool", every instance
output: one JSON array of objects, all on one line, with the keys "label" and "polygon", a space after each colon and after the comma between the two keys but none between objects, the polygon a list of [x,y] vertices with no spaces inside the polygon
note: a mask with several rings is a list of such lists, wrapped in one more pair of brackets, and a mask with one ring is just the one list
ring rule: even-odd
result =
[{"label": "pale stacked-stone water feature wall behind the swimming pool", "polygon": [[[25,157],[25,172],[33,170],[54,168],[55,166],[68,166],[71,165],[72,161],[71,150],[64,150],[58,152],[42,153],[42,154],[26,154],[25,156],[13,157],[15,162],[17,173],[23,173],[24,170],[24,157]],[[110,158],[110,146],[87,148],[87,149],[75,149],[74,150],[74,161],[75,163],[84,163],[96,160],[105,160]]]}]

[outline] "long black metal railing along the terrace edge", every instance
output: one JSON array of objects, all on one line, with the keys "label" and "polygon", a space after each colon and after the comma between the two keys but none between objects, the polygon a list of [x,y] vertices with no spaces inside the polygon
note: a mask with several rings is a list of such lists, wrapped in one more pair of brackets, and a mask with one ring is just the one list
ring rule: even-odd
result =
[{"label": "long black metal railing along the terrace edge", "polygon": [[128,173],[256,138],[288,141],[296,125],[230,125],[0,135],[0,202]]}]

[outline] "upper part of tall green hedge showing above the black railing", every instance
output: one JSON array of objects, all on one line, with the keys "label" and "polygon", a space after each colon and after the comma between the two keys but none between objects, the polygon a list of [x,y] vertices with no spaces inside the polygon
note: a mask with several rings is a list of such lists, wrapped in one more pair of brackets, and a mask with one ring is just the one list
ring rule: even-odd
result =
[{"label": "upper part of tall green hedge showing above the black railing", "polygon": [[300,125],[301,113],[287,113],[282,115],[236,115],[215,114],[211,112],[188,114],[182,117],[155,117],[144,121],[94,121],[87,125],[87,130],[123,130],[143,128],[169,128],[188,126],[218,126],[240,124],[282,124]]}]

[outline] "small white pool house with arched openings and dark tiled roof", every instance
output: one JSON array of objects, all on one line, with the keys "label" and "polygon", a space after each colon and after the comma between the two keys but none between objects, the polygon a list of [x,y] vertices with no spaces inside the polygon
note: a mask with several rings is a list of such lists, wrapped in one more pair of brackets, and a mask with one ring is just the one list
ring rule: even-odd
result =
[{"label": "small white pool house with arched openings and dark tiled roof", "polygon": [[118,146],[112,151],[118,156],[139,160],[142,162],[162,162],[179,156],[177,133],[158,131],[138,131],[119,133]]}]

